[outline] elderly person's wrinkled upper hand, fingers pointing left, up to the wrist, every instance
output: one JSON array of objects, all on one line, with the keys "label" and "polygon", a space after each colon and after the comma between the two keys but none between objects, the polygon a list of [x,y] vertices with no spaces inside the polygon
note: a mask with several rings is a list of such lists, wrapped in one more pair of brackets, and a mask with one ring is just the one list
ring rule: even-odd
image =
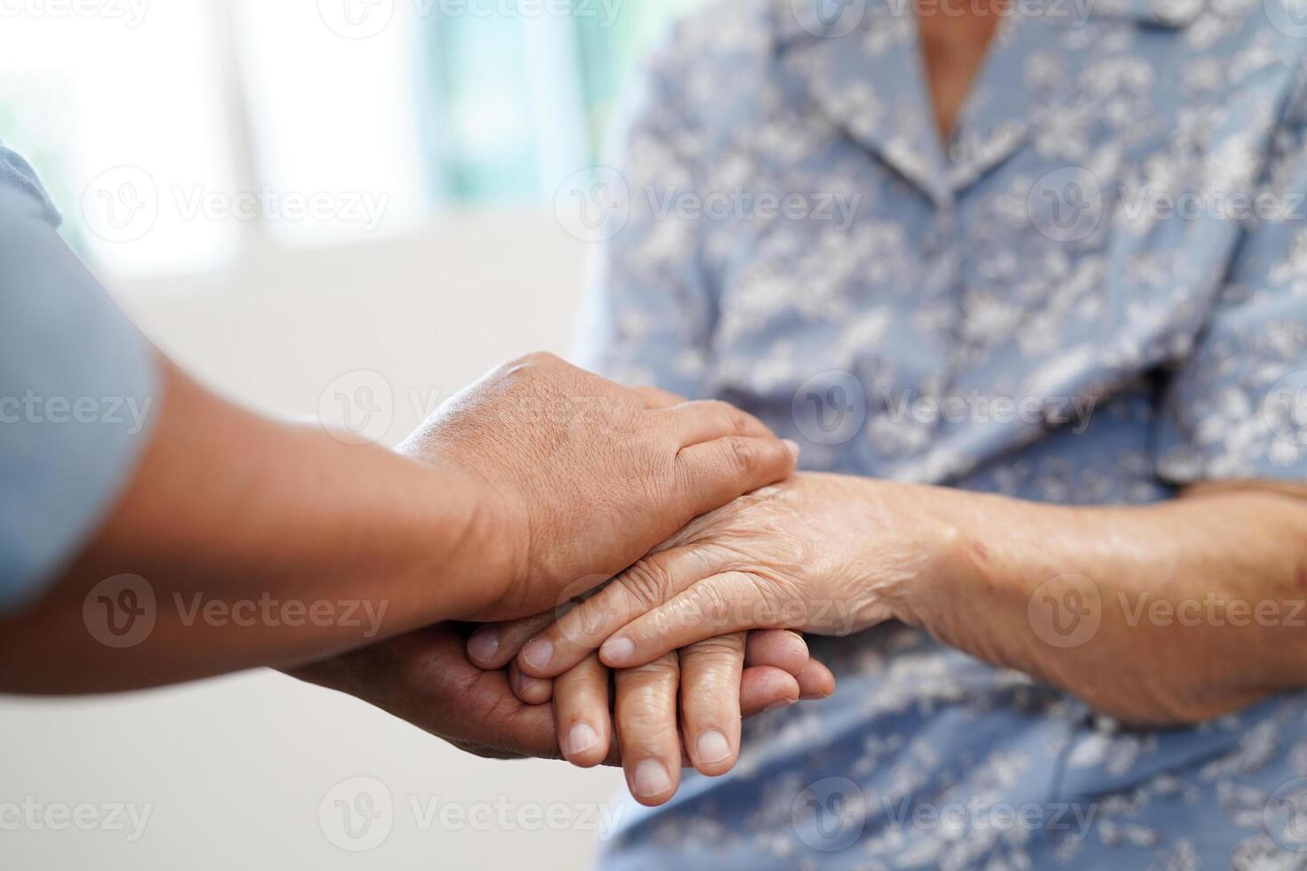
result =
[{"label": "elderly person's wrinkled upper hand, fingers pointing left, up to the wrist", "polygon": [[552,678],[600,645],[605,665],[633,667],[741,629],[847,635],[899,616],[953,535],[919,491],[869,483],[799,474],[699,517],[529,641],[520,669]]}]

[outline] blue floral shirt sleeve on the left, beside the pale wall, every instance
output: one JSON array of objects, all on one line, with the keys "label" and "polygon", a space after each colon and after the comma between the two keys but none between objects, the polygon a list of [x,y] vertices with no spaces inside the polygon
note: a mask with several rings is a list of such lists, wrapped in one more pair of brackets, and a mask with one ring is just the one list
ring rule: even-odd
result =
[{"label": "blue floral shirt sleeve on the left, beside the pale wall", "polygon": [[686,57],[673,43],[620,114],[613,167],[627,210],[589,262],[576,334],[580,366],[625,384],[702,394],[715,304],[704,276],[698,222],[678,204],[694,196],[701,135],[681,93]]}]

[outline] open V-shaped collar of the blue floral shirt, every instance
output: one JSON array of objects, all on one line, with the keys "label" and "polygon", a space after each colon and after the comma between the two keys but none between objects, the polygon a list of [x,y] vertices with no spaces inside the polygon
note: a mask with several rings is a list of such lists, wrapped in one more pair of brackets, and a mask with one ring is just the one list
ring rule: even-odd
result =
[{"label": "open V-shaped collar of the blue floral shirt", "polygon": [[[940,3],[942,0],[932,0]],[[953,0],[972,1],[972,0]],[[1077,73],[1100,42],[1061,56],[1065,69],[1039,89],[1021,81],[1022,60],[1048,47],[1052,34],[1074,27],[1179,29],[1206,0],[1012,0],[985,77],[988,103],[968,103],[959,118],[955,151],[945,155],[916,44],[914,0],[770,0],[778,63],[826,118],[938,205],[1014,154],[1027,137],[1074,97]],[[1076,5],[1076,4],[1081,5]]]}]

